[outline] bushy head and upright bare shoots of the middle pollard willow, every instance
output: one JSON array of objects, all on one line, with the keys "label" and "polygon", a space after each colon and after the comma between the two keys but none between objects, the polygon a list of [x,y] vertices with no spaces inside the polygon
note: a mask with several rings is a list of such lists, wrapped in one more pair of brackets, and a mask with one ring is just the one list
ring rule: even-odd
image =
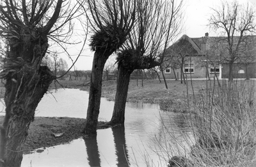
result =
[{"label": "bushy head and upright bare shoots of the middle pollard willow", "polygon": [[126,40],[135,21],[136,1],[89,0],[86,17],[90,20],[93,51],[116,50]]}]

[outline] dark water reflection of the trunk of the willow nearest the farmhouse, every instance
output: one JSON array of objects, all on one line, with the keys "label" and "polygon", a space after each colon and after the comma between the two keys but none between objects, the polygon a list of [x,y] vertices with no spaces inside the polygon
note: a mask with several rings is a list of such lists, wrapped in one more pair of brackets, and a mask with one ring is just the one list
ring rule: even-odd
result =
[{"label": "dark water reflection of the trunk of the willow nearest the farmhouse", "polygon": [[117,166],[129,166],[128,151],[125,143],[125,128],[124,125],[111,128],[113,131],[114,142],[116,147]]}]

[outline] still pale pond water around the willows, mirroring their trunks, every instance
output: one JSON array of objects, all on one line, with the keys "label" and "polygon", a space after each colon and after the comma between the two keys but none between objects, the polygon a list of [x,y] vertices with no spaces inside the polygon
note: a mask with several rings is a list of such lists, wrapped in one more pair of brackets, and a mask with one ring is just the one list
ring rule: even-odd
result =
[{"label": "still pale pond water around the willows, mirroring their trunks", "polygon": [[[35,116],[86,118],[87,106],[88,92],[58,89],[44,96]],[[109,121],[113,106],[113,101],[102,98],[99,120]],[[21,166],[147,166],[147,161],[166,166],[166,152],[173,156],[184,152],[193,142],[186,140],[191,136],[179,113],[163,112],[156,104],[127,103],[124,127],[99,129],[95,136],[47,147],[44,152],[35,150],[24,155]]]}]

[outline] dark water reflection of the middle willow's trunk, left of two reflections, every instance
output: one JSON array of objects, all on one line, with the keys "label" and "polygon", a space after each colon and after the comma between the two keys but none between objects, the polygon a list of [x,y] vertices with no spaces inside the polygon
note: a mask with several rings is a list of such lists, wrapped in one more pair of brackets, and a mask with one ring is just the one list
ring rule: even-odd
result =
[{"label": "dark water reflection of the middle willow's trunk, left of two reflections", "polygon": [[97,134],[83,137],[83,139],[86,145],[88,164],[90,166],[100,166],[100,154],[97,143]]}]

